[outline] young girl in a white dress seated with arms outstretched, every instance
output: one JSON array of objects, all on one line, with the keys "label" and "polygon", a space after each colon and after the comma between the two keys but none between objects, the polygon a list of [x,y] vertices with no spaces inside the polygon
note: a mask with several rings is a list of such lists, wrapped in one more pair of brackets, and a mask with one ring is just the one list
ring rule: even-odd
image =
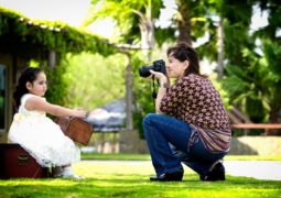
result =
[{"label": "young girl in a white dress seated with arms outstretched", "polygon": [[22,73],[13,94],[19,112],[14,114],[9,141],[20,144],[41,166],[55,167],[55,177],[79,179],[71,168],[80,158],[79,148],[46,113],[85,117],[86,112],[47,102],[43,98],[46,89],[46,76],[40,68],[29,67]]}]

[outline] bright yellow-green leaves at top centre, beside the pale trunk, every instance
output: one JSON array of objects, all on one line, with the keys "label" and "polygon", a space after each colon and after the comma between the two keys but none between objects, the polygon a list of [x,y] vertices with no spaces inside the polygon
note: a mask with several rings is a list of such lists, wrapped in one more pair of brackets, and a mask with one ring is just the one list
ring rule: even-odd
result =
[{"label": "bright yellow-green leaves at top centre, beside the pale trunk", "polygon": [[[111,18],[117,23],[117,29],[120,31],[118,40],[115,42],[127,43],[128,38],[134,42],[140,42],[141,32],[140,25],[149,18],[158,19],[161,0],[93,0],[93,8],[88,19],[84,25],[88,25],[96,20]],[[152,7],[151,10],[149,7]],[[151,11],[151,13],[150,13]]]}]

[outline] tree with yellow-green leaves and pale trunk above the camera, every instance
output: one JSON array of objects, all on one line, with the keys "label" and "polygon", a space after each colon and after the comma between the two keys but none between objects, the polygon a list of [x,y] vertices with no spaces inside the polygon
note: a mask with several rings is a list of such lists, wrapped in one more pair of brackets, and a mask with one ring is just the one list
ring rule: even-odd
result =
[{"label": "tree with yellow-green leaves and pale trunk above the camera", "polygon": [[[84,22],[88,25],[96,20],[111,18],[119,29],[119,43],[132,40],[141,43],[148,61],[150,51],[154,47],[154,19],[159,18],[161,0],[94,0],[89,18]],[[97,9],[99,7],[99,9]],[[130,41],[131,42],[131,41]]]}]

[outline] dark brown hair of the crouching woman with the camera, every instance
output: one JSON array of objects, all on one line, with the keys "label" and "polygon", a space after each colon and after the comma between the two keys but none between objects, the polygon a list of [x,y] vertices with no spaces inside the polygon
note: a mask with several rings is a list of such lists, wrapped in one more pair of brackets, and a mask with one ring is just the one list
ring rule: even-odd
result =
[{"label": "dark brown hair of the crouching woman with the camera", "polygon": [[166,51],[167,56],[173,56],[180,62],[188,61],[190,66],[185,69],[184,76],[190,74],[196,74],[199,76],[199,58],[195,50],[190,46],[187,43],[179,43],[176,46],[170,47]]}]

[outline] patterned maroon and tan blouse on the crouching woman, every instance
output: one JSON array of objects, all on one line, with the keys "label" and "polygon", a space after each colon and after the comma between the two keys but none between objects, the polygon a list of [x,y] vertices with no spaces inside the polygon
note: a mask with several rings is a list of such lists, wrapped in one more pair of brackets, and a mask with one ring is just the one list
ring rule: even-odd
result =
[{"label": "patterned maroon and tan blouse on the crouching woman", "polygon": [[193,135],[199,136],[209,151],[229,150],[230,121],[209,79],[197,75],[179,79],[163,97],[160,110],[190,123],[196,133]]}]

